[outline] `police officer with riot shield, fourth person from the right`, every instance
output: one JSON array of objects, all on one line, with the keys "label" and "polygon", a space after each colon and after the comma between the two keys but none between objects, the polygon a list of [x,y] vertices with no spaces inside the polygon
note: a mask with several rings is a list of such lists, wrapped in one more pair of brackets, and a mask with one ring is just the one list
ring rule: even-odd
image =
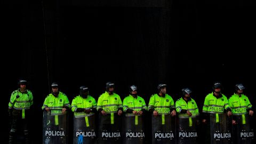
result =
[{"label": "police officer with riot shield, fourth person from the right", "polygon": [[175,105],[166,94],[166,84],[158,84],[158,93],[151,95],[148,104],[152,119],[152,143],[175,142]]}]

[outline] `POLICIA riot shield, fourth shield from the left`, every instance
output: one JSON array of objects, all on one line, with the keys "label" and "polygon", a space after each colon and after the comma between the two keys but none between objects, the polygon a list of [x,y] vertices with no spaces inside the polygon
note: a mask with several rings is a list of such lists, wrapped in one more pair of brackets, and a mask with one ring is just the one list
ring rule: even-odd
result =
[{"label": "POLICIA riot shield, fourth shield from the left", "polygon": [[145,143],[144,117],[126,113],[123,117],[123,143],[143,144]]}]

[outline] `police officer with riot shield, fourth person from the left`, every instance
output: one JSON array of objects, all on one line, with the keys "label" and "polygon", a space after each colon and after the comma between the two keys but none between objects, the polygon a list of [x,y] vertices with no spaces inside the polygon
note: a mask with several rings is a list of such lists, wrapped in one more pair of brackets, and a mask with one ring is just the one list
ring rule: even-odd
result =
[{"label": "police officer with riot shield, fourth person from the left", "polygon": [[97,102],[99,111],[99,143],[121,143],[122,100],[115,93],[115,84],[106,83],[106,92]]}]

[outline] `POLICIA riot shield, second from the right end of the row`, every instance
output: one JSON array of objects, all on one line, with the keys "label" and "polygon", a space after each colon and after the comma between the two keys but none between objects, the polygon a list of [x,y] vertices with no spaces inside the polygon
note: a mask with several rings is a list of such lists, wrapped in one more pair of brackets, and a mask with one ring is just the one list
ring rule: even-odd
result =
[{"label": "POLICIA riot shield, second from the right end of the row", "polygon": [[210,114],[211,143],[231,143],[231,118],[227,114]]}]

